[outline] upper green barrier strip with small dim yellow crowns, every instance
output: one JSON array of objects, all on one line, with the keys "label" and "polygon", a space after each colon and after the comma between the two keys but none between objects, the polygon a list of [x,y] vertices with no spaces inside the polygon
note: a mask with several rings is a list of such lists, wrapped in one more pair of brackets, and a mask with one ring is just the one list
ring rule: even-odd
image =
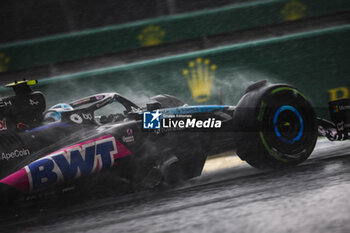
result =
[{"label": "upper green barrier strip with small dim yellow crowns", "polygon": [[260,0],[0,45],[0,72],[350,10],[347,0]]}]

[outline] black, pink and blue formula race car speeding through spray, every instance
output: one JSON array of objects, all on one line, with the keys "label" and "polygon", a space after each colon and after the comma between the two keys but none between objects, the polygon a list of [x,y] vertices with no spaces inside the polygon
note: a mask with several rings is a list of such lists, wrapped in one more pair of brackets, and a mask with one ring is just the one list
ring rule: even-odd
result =
[{"label": "black, pink and blue formula race car speeding through spray", "polygon": [[3,202],[104,171],[136,184],[172,185],[199,176],[208,155],[232,150],[256,168],[294,166],[309,157],[318,134],[345,140],[350,131],[349,100],[330,103],[331,122],[317,118],[296,88],[266,81],[250,85],[236,106],[188,106],[157,95],[140,107],[102,93],[46,112],[34,84],[9,84],[16,95],[0,99]]}]

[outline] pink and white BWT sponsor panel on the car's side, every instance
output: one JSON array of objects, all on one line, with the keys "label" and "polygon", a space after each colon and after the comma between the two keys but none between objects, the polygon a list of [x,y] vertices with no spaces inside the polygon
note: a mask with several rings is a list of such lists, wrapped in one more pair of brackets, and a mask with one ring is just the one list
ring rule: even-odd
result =
[{"label": "pink and white BWT sponsor panel on the car's side", "polygon": [[130,151],[123,144],[107,135],[51,153],[2,179],[0,183],[23,192],[35,192],[112,167],[116,159],[128,155]]}]

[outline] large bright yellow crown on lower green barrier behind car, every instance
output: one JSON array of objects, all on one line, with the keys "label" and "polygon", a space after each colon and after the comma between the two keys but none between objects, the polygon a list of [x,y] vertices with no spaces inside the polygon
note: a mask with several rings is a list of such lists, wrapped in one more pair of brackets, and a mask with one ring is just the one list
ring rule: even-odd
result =
[{"label": "large bright yellow crown on lower green barrier behind car", "polygon": [[188,68],[183,70],[182,74],[186,77],[196,102],[202,103],[210,98],[216,68],[215,64],[210,64],[209,59],[203,60],[199,57],[195,61],[190,61]]}]

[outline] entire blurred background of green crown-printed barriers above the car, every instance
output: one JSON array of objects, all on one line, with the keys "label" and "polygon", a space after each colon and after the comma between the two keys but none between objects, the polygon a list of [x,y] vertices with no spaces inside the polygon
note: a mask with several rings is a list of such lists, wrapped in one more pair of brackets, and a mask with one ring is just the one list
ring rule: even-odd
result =
[{"label": "entire blurred background of green crown-printed barriers above the car", "polygon": [[347,0],[3,0],[0,17],[0,83],[42,79],[49,105],[106,91],[235,104],[261,79],[320,114],[349,96]]}]

